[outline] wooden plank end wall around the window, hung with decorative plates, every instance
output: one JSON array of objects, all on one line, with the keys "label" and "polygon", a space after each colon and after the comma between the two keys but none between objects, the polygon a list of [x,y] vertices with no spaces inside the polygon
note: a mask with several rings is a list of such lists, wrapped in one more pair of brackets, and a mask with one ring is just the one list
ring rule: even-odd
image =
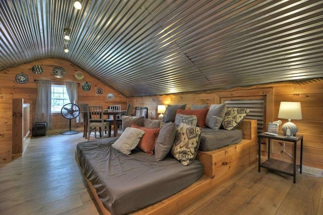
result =
[{"label": "wooden plank end wall around the window, hung with decorative plates", "polygon": [[[32,72],[31,69],[35,65],[40,65],[43,68],[41,74],[34,74]],[[52,69],[54,67],[64,68],[66,76],[63,78],[54,77],[52,75]],[[76,80],[74,77],[76,71],[83,72],[85,76],[84,80]],[[19,73],[24,73],[28,76],[28,83],[19,84],[15,81],[15,77]],[[2,70],[0,71],[0,162],[11,160],[12,157],[12,99],[23,98],[25,103],[30,103],[30,128],[32,128],[37,98],[37,83],[34,79],[50,79],[52,82],[75,81],[80,83],[78,103],[103,105],[104,107],[111,104],[121,104],[123,110],[127,108],[127,98],[125,96],[116,92],[109,86],[106,86],[100,82],[100,80],[95,79],[87,72],[66,60],[47,58]],[[89,82],[92,86],[89,92],[85,92],[81,88],[81,84],[84,81]],[[103,94],[95,93],[97,87],[103,89]],[[106,94],[109,92],[115,94],[115,98],[112,101],[106,98]],[[48,134],[68,130],[69,121],[63,118],[60,113],[52,114],[52,126],[53,130],[47,131]],[[83,123],[76,123],[75,120],[72,120],[72,128],[82,130]]]}]

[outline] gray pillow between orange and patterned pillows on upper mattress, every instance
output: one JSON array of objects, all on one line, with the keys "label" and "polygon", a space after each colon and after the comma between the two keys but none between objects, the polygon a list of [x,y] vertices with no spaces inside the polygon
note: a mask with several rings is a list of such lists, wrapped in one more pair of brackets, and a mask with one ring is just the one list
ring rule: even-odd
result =
[{"label": "gray pillow between orange and patterned pillows on upper mattress", "polygon": [[226,114],[226,104],[211,104],[208,109],[205,125],[211,129],[219,130]]}]

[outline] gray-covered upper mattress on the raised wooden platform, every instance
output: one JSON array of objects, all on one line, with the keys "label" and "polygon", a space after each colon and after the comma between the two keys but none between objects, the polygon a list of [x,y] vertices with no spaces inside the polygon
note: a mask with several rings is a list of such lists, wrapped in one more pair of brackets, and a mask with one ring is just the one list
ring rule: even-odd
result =
[{"label": "gray-covered upper mattress on the raised wooden platform", "polygon": [[239,129],[214,130],[210,128],[201,128],[201,141],[198,150],[212,151],[227,145],[233,145],[241,142],[242,131]]}]

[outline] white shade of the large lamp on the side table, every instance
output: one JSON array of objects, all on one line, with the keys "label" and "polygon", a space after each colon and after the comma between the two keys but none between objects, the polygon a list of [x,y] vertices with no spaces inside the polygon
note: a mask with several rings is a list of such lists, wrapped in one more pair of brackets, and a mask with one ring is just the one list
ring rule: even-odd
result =
[{"label": "white shade of the large lamp on the side table", "polygon": [[289,120],[301,120],[302,109],[301,102],[281,101],[278,118]]}]

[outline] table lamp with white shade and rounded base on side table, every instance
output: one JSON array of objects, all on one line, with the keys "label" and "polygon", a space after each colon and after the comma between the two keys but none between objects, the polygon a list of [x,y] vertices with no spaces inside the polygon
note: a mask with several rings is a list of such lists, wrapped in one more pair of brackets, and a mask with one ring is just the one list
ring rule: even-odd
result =
[{"label": "table lamp with white shade and rounded base on side table", "polygon": [[295,136],[298,128],[294,123],[291,122],[291,120],[302,119],[301,102],[281,101],[278,118],[288,119],[288,122],[282,126],[284,135],[286,135],[287,129],[290,129],[291,135]]}]

